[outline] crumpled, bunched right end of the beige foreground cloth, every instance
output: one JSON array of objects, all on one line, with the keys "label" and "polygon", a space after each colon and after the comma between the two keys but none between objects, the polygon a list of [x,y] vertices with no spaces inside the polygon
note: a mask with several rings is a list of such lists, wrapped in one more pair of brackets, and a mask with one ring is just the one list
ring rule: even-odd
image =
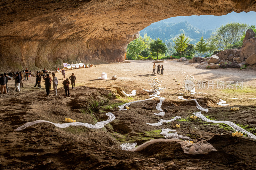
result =
[{"label": "crumpled, bunched right end of the beige foreground cloth", "polygon": [[212,144],[209,144],[206,140],[201,140],[199,142],[196,142],[194,144],[191,144],[188,141],[176,141],[177,143],[181,144],[181,148],[184,153],[188,153],[191,155],[197,155],[197,154],[208,154],[211,151],[217,151]]}]

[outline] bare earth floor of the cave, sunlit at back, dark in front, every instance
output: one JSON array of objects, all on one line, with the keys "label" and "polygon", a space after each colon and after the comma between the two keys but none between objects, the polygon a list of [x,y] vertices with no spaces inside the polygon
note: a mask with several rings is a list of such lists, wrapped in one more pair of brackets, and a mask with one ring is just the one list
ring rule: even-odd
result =
[{"label": "bare earth floor of the cave, sunlit at back, dark in front", "polygon": [[[21,92],[15,92],[14,81],[9,80],[10,92],[0,96],[0,169],[256,169],[256,140],[246,137],[232,137],[234,129],[225,124],[204,122],[201,119],[189,120],[193,112],[199,112],[196,99],[208,108],[202,114],[209,119],[231,121],[256,135],[256,71],[254,69],[196,69],[196,63],[165,61],[164,74],[152,73],[152,61],[131,61],[131,63],[113,63],[96,65],[93,68],[66,71],[66,78],[72,72],[76,75],[76,89],[70,90],[71,97],[65,97],[62,75],[59,79],[58,96],[46,97],[44,82],[42,89],[34,88],[35,77],[24,81]],[[205,89],[196,92],[206,94],[188,94],[180,90],[184,78],[181,72],[193,75],[199,82],[206,82]],[[98,79],[102,72],[107,80]],[[116,80],[111,76],[116,75]],[[156,105],[159,99],[132,103],[129,110],[119,111],[117,106],[124,103],[150,98],[143,89],[150,90],[148,78],[158,77],[166,87],[160,97],[163,101],[164,116]],[[176,77],[181,85],[177,85]],[[216,83],[214,89],[207,89],[208,81]],[[216,89],[217,83],[224,81],[244,82],[243,89]],[[236,83],[235,83],[236,84]],[[112,85],[112,87],[110,87]],[[239,83],[240,85],[240,83]],[[137,90],[136,96],[122,97],[113,86],[124,89],[126,93]],[[234,85],[235,86],[235,85]],[[71,85],[70,85],[71,88]],[[196,86],[197,88],[197,86]],[[231,98],[243,98],[242,100]],[[219,99],[226,100],[229,106],[219,106]],[[240,107],[239,111],[230,111],[230,107]],[[26,122],[47,120],[65,123],[65,117],[76,122],[95,124],[105,121],[111,112],[116,116],[113,122],[102,129],[89,129],[81,126],[57,128],[50,123],[40,123],[26,128],[22,132],[14,129]],[[186,131],[188,120],[190,130],[208,140],[218,151],[207,155],[185,154],[176,142],[159,142],[140,152],[122,151],[120,144],[143,144],[150,139],[164,138],[161,129],[172,129],[172,123],[162,126],[150,126],[159,119],[170,120],[181,116],[177,122]],[[176,129],[177,130],[177,129]],[[180,135],[187,135],[177,131]],[[188,135],[193,139],[196,136]]]}]

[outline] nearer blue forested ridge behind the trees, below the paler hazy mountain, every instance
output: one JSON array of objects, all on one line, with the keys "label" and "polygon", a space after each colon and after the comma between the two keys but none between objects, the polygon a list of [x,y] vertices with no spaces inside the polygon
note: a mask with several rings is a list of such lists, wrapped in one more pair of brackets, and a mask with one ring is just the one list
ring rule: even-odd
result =
[{"label": "nearer blue forested ridge behind the trees, below the paler hazy mountain", "polygon": [[202,36],[204,36],[204,39],[209,38],[211,36],[212,30],[200,30],[189,24],[187,21],[177,24],[159,21],[140,31],[140,35],[142,37],[145,33],[147,33],[148,36],[150,36],[152,39],[160,38],[166,43],[169,41],[173,43],[172,40],[175,37],[181,33],[184,33],[187,37],[189,37],[189,43],[196,44],[196,42],[198,42]]}]

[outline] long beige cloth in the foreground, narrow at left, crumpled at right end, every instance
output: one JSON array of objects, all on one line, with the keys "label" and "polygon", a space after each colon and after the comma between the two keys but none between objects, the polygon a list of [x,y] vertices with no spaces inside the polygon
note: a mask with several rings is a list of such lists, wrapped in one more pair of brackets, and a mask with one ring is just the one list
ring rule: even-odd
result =
[{"label": "long beige cloth in the foreground, narrow at left, crumpled at right end", "polygon": [[196,155],[196,154],[208,154],[211,151],[217,151],[211,144],[207,143],[205,140],[199,141],[197,143],[191,144],[187,141],[181,141],[180,139],[152,139],[148,142],[145,142],[144,144],[141,144],[134,149],[132,149],[133,152],[141,151],[145,148],[147,148],[151,144],[155,144],[157,142],[177,142],[181,144],[181,148],[184,151],[184,153]]}]

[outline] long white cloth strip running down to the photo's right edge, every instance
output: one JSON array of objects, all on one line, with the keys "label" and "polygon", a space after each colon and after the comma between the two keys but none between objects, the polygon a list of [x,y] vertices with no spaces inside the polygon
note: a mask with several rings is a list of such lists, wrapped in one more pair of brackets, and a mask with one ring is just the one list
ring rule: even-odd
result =
[{"label": "long white cloth strip running down to the photo's right edge", "polygon": [[237,126],[235,123],[233,122],[229,122],[229,121],[214,121],[214,120],[210,120],[207,119],[204,115],[201,114],[201,112],[197,112],[197,113],[193,113],[194,115],[196,115],[198,118],[202,119],[205,122],[212,122],[212,123],[224,123],[228,126],[230,126],[231,128],[235,129],[236,131],[240,131],[242,133],[245,133],[248,135],[248,137],[251,137],[253,139],[256,139],[256,136],[253,135],[252,133],[244,130],[243,128],[241,128],[240,126]]}]

